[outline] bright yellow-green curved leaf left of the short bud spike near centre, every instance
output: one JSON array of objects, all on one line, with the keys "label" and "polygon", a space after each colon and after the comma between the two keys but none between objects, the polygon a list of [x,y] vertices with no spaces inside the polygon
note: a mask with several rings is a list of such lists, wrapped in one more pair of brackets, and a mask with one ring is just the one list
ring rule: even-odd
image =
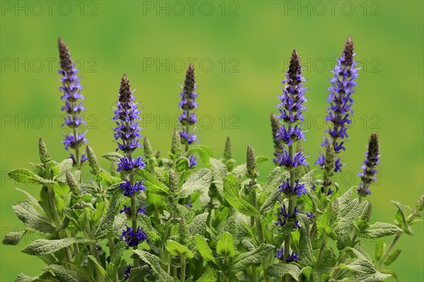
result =
[{"label": "bright yellow-green curved leaf left of the short bud spike near centre", "polygon": [[258,210],[255,209],[252,204],[249,204],[249,202],[240,197],[237,180],[232,174],[224,178],[224,197],[232,207],[246,216],[255,216],[259,214]]}]

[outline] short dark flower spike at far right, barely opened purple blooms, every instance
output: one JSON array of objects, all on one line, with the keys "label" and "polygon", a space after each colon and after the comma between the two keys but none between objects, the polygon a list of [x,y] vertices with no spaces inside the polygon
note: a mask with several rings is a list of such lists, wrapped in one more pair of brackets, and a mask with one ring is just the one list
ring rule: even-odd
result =
[{"label": "short dark flower spike at far right, barely opened purple blooms", "polygon": [[377,164],[379,164],[379,144],[377,133],[372,133],[368,142],[368,150],[365,153],[365,161],[361,166],[363,172],[358,173],[361,182],[359,185],[358,194],[362,197],[370,195],[370,184],[377,180],[375,173],[377,173]]}]

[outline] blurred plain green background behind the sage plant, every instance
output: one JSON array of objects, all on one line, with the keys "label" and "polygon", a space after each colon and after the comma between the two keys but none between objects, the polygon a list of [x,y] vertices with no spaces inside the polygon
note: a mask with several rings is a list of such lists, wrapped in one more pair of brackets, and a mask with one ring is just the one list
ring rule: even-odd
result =
[{"label": "blurred plain green background behind the sage plant", "polygon": [[[248,143],[272,157],[269,114],[295,48],[308,80],[304,147],[313,164],[331,67],[348,35],[363,69],[339,182],[343,190],[358,185],[368,136],[377,131],[382,157],[369,197],[372,221],[391,222],[391,200],[413,206],[423,193],[423,1],[1,1],[1,236],[23,227],[11,205],[24,196],[6,172],[38,161],[38,137],[55,159],[68,157],[60,143],[58,37],[81,68],[86,136],[98,155],[115,149],[111,107],[122,73],[144,108],[143,134],[167,152],[192,58],[201,144],[221,157],[230,135],[236,159]],[[261,164],[261,177],[271,168],[271,161]],[[391,268],[401,281],[424,281],[423,224],[415,231],[397,245],[401,257]],[[40,273],[43,262],[19,252],[30,240],[1,245],[1,281]],[[366,245],[373,253],[373,243]]]}]

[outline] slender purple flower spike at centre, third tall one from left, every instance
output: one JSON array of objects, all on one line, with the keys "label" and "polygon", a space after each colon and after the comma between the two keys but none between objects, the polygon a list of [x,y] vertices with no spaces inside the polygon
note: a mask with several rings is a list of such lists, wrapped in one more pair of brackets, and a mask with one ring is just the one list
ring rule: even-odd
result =
[{"label": "slender purple flower spike at centre, third tall one from left", "polygon": [[[194,142],[199,142],[197,136],[194,134],[194,125],[197,122],[197,116],[194,114],[194,110],[197,108],[196,97],[196,78],[194,77],[194,67],[192,63],[187,68],[186,77],[184,80],[184,86],[181,96],[181,102],[179,102],[179,108],[182,109],[182,114],[179,116],[178,121],[181,123],[182,130],[179,132],[181,137],[181,143],[186,145],[186,151]],[[190,167],[196,165],[196,159],[194,156],[189,158]]]}]

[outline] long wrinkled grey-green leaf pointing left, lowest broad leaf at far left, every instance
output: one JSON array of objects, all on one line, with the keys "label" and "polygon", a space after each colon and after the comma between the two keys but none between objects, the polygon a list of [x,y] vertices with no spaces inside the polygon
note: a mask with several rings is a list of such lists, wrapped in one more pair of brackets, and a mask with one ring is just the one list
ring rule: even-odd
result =
[{"label": "long wrinkled grey-green leaf pointing left, lowest broad leaf at far left", "polygon": [[28,247],[25,247],[22,252],[28,255],[47,255],[57,252],[58,250],[61,250],[64,247],[69,247],[74,243],[86,242],[89,242],[89,240],[78,237],[68,237],[58,240],[37,239]]}]

